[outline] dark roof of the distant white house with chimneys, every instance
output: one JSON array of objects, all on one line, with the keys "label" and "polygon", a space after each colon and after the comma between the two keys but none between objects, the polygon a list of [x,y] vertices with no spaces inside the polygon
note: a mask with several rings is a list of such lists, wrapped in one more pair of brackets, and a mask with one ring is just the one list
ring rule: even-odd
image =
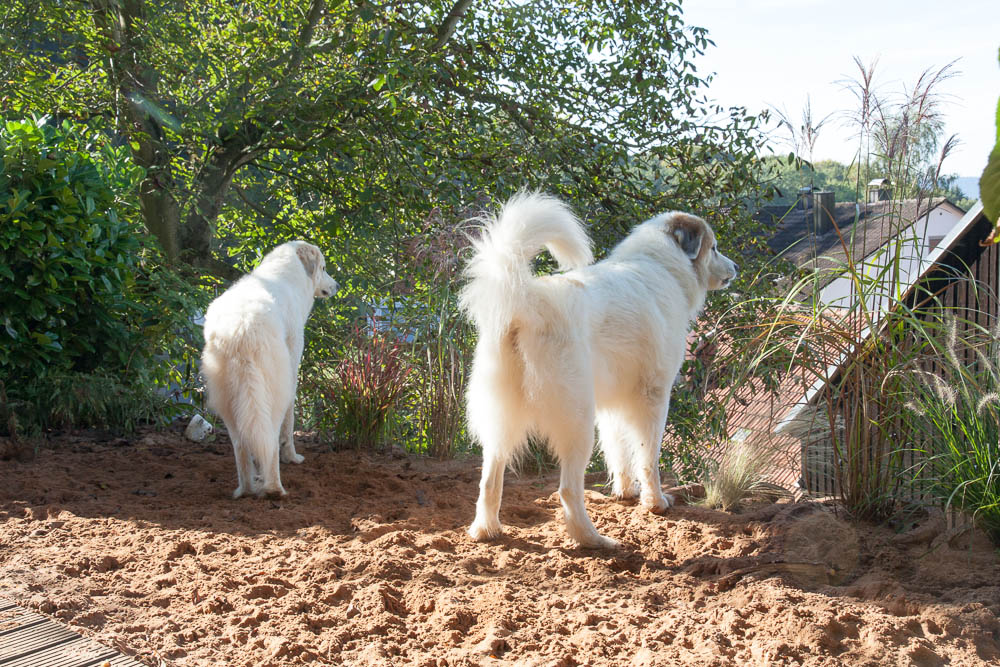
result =
[{"label": "dark roof of the distant white house with chimneys", "polygon": [[892,238],[899,236],[931,211],[947,206],[959,216],[965,211],[944,197],[905,199],[871,203],[838,202],[834,204],[834,226],[826,233],[813,233],[813,209],[801,205],[765,206],[761,216],[778,221],[768,246],[798,268],[825,270],[820,285],[831,282],[848,261],[868,257]]}]

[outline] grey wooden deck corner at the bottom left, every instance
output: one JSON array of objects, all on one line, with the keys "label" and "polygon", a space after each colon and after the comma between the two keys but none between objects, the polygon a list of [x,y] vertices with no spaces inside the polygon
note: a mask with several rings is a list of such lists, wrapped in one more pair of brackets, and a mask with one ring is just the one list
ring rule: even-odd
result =
[{"label": "grey wooden deck corner at the bottom left", "polygon": [[2,667],[143,667],[37,612],[0,598]]}]

